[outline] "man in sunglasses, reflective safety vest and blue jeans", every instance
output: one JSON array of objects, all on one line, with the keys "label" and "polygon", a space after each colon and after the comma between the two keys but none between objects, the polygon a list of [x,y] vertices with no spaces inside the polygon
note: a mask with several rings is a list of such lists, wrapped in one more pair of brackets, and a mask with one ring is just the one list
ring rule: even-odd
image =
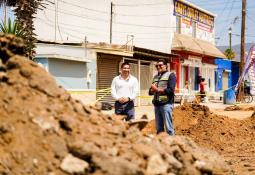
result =
[{"label": "man in sunglasses, reflective safety vest and blue jeans", "polygon": [[152,103],[155,110],[157,134],[166,129],[169,135],[174,135],[172,117],[176,76],[175,73],[167,70],[166,60],[157,61],[156,68],[158,73],[153,78],[149,95],[154,95]]}]

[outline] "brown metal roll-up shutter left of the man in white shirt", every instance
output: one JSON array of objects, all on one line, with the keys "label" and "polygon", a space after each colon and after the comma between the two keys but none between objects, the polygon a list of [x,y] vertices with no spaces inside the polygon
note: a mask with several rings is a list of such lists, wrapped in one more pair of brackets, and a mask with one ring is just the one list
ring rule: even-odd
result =
[{"label": "brown metal roll-up shutter left of the man in white shirt", "polygon": [[[97,58],[97,94],[96,98],[100,102],[114,104],[115,100],[111,96],[109,88],[112,80],[119,74],[119,63],[121,57],[114,55],[100,54]],[[108,89],[108,90],[106,90]]]}]

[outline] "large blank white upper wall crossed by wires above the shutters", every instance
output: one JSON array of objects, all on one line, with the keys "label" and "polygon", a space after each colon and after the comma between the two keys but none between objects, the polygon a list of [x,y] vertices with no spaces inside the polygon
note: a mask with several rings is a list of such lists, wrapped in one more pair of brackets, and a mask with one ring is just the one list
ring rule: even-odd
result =
[{"label": "large blank white upper wall crossed by wires above the shutters", "polygon": [[[109,43],[110,0],[55,2],[38,12],[38,39],[82,42],[87,36],[89,42]],[[171,52],[176,23],[172,0],[113,0],[113,4],[112,43],[125,44],[127,35],[133,35],[137,47]]]}]

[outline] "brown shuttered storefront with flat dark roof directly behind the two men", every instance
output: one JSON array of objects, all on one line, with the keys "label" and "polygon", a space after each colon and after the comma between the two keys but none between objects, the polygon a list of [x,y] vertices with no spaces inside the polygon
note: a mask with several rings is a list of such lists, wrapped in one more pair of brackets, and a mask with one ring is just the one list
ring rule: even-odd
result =
[{"label": "brown shuttered storefront with flat dark roof directly behind the two men", "polygon": [[[105,51],[104,51],[105,52]],[[148,97],[152,78],[156,73],[155,63],[159,59],[171,59],[176,57],[173,54],[162,53],[149,49],[133,47],[130,53],[103,53],[97,52],[97,99],[101,102],[113,104],[114,99],[109,93],[112,79],[119,74],[120,66],[123,62],[130,63],[131,75],[138,79],[139,94],[135,100],[135,105],[150,105],[151,98]],[[169,64],[170,67],[170,64]],[[108,90],[107,90],[108,89]]]}]

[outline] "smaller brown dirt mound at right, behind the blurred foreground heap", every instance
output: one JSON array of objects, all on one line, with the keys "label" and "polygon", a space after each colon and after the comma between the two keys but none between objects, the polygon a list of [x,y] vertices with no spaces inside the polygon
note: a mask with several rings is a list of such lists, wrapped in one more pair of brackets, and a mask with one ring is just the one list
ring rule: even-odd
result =
[{"label": "smaller brown dirt mound at right, behind the blurred foreground heap", "polygon": [[[199,145],[216,150],[237,174],[255,174],[255,118],[235,120],[211,113],[206,106],[185,104],[174,109],[177,135],[189,136]],[[155,134],[154,120],[143,132]]]}]

